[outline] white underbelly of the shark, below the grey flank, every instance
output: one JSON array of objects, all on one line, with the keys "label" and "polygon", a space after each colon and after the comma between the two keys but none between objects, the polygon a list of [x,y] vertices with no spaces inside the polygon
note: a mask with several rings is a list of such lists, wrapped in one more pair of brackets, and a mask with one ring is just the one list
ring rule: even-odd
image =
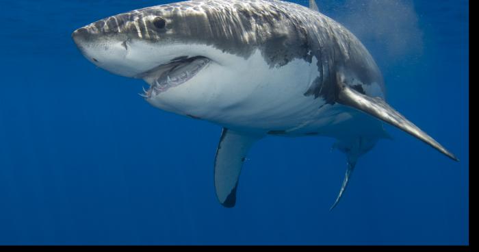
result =
[{"label": "white underbelly of the shark, below the grey flank", "polygon": [[[224,53],[214,48],[207,50],[219,54],[218,58],[235,57],[221,55]],[[318,76],[315,59],[312,62],[293,60],[281,68],[271,68],[261,52],[256,51],[247,60],[238,58],[235,62],[243,63],[226,70],[231,73],[216,69],[218,65],[209,65],[195,76],[194,81],[168,90],[167,95],[146,96],[146,100],[161,110],[251,134],[341,138],[355,129],[344,131],[344,127],[354,121],[363,121],[370,124],[361,129],[361,134],[385,136],[383,131],[378,131],[381,123],[377,120],[344,105],[328,105],[324,99],[305,96]],[[211,79],[211,75],[216,77]],[[205,81],[209,83],[206,92],[197,85]],[[198,97],[203,105],[194,105],[199,102],[192,103],[188,94],[202,92]]]}]

